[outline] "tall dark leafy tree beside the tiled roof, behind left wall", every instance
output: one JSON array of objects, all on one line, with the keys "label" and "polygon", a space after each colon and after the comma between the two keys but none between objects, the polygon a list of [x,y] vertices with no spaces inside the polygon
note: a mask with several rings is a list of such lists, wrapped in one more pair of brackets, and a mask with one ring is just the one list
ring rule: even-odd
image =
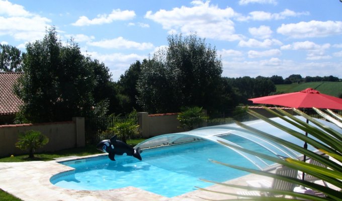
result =
[{"label": "tall dark leafy tree beside the tiled roof, behind left wall", "polygon": [[28,43],[26,51],[25,73],[15,85],[25,117],[53,122],[91,116],[95,98],[97,102],[103,98],[96,92],[108,82],[108,68],[83,56],[73,40],[63,46],[54,27],[43,40]]}]

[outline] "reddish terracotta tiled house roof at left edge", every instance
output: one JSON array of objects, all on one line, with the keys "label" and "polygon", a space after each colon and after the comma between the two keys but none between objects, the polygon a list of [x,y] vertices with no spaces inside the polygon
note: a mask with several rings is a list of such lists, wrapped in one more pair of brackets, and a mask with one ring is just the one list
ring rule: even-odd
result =
[{"label": "reddish terracotta tiled house roof at left edge", "polygon": [[0,115],[11,115],[19,112],[22,100],[13,92],[13,85],[23,73],[0,72]]}]

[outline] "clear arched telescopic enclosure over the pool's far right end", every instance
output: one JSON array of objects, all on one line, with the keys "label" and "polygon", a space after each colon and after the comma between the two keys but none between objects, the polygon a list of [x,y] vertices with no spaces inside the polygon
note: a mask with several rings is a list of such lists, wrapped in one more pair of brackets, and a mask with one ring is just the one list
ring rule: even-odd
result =
[{"label": "clear arched telescopic enclosure over the pool's far right end", "polygon": [[[301,116],[296,116],[298,119],[302,120],[302,121],[306,121],[305,118],[301,117]],[[293,129],[297,132],[301,132],[303,133],[303,131],[299,130],[298,128],[294,127],[293,125],[285,122],[284,120],[280,119],[280,118],[271,118],[271,120],[282,124],[283,126],[286,126],[290,129]],[[316,119],[317,121],[321,122],[322,124],[336,130],[339,133],[342,133],[342,129],[337,127],[334,124],[331,124],[329,122],[323,121],[323,120],[319,120]],[[255,129],[258,129],[260,131],[263,131],[265,133],[274,135],[276,137],[279,137],[281,139],[287,140],[289,142],[292,142],[298,146],[302,146],[303,145],[303,141],[299,140],[298,138],[288,134],[287,132],[284,132],[270,124],[268,124],[267,122],[263,121],[263,120],[254,120],[254,121],[248,121],[248,122],[243,122],[243,124],[253,127]],[[314,126],[314,125],[313,125]],[[153,147],[163,147],[163,146],[172,146],[172,145],[178,145],[178,144],[182,144],[182,143],[188,143],[188,142],[195,142],[195,141],[199,141],[199,140],[209,140],[212,141],[214,143],[217,143],[217,146],[225,146],[221,143],[219,143],[218,141],[223,141],[226,142],[228,144],[233,144],[233,145],[237,145],[233,142],[229,141],[229,137],[230,135],[234,135],[237,136],[243,140],[248,140],[252,143],[255,143],[263,148],[265,148],[266,150],[268,150],[270,153],[272,153],[272,155],[276,155],[278,157],[286,157],[286,158],[295,158],[295,159],[299,159],[300,157],[303,156],[303,154],[298,153],[292,149],[289,149],[281,144],[278,144],[276,142],[273,141],[269,141],[268,139],[264,139],[261,136],[258,136],[257,134],[250,132],[248,130],[245,130],[241,127],[239,127],[236,124],[226,124],[226,125],[221,125],[221,126],[211,126],[211,127],[203,127],[203,128],[199,128],[199,129],[195,129],[192,131],[187,131],[187,132],[181,132],[181,133],[173,133],[173,134],[165,134],[165,135],[160,135],[160,136],[156,136],[150,139],[147,139],[143,142],[141,142],[140,144],[136,145],[134,148],[140,147],[141,149],[144,148],[153,148]],[[305,135],[305,133],[303,133],[303,135]],[[314,137],[310,136],[309,137],[315,139]],[[315,139],[317,140],[317,139]],[[243,147],[243,144],[239,144],[237,146]],[[275,164],[270,164],[269,161],[266,161],[263,158],[259,158],[257,156],[251,155],[251,154],[247,154],[244,152],[241,152],[239,150],[233,149],[231,147],[225,146],[227,147],[227,149],[232,149],[236,154],[240,154],[242,157],[246,158],[247,160],[249,160],[252,164],[255,165],[255,167],[262,169],[262,170],[266,170],[266,169],[270,169],[272,168]],[[243,147],[248,149],[248,147]],[[311,151],[318,151],[316,148],[314,148],[311,145],[308,145],[308,150]]]}]

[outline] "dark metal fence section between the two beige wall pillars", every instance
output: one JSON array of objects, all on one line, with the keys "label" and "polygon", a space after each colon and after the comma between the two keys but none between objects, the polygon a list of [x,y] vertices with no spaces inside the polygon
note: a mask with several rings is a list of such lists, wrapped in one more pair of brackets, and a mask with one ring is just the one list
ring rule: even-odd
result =
[{"label": "dark metal fence section between the two beige wall pillars", "polygon": [[[133,121],[138,125],[138,116],[133,117],[115,117],[104,118],[86,118],[85,122],[85,142],[87,144],[97,144],[104,139],[110,139],[115,133],[109,128],[114,127],[117,122]],[[138,130],[137,130],[138,131]]]}]

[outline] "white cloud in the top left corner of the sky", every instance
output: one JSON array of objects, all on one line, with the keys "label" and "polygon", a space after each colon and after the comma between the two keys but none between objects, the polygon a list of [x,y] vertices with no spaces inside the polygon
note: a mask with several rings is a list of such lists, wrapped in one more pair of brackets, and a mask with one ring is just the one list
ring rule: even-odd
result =
[{"label": "white cloud in the top left corner of the sky", "polygon": [[50,19],[30,13],[23,6],[0,1],[0,36],[9,35],[19,41],[34,41],[45,35]]}]

